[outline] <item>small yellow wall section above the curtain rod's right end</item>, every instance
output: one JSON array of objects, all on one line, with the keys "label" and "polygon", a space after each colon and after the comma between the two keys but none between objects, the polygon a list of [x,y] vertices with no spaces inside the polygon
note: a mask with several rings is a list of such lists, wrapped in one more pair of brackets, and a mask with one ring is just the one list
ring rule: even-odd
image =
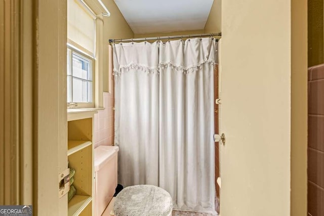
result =
[{"label": "small yellow wall section above the curtain rod's right end", "polygon": [[214,0],[204,31],[205,33],[217,33],[221,31],[221,27],[222,27],[222,1]]}]

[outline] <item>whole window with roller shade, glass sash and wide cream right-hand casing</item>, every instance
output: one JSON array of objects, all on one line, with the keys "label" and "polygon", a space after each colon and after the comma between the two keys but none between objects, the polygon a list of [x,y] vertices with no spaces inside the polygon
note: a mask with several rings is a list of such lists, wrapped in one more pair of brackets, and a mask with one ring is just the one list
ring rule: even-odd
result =
[{"label": "whole window with roller shade, glass sash and wide cream right-hand casing", "polygon": [[101,0],[67,0],[68,108],[103,107],[103,16]]}]

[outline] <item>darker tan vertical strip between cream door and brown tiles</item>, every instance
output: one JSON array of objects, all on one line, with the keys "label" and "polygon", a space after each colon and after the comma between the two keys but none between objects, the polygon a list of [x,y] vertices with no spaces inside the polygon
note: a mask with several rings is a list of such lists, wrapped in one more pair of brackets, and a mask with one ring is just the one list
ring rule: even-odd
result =
[{"label": "darker tan vertical strip between cream door and brown tiles", "polygon": [[307,215],[307,0],[291,3],[291,215],[304,216]]}]

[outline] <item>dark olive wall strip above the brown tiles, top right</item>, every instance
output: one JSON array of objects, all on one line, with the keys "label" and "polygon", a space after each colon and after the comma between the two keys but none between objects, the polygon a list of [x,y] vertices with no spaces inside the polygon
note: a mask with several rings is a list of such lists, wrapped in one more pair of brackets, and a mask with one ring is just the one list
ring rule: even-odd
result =
[{"label": "dark olive wall strip above the brown tiles, top right", "polygon": [[308,0],[308,66],[322,64],[323,0]]}]

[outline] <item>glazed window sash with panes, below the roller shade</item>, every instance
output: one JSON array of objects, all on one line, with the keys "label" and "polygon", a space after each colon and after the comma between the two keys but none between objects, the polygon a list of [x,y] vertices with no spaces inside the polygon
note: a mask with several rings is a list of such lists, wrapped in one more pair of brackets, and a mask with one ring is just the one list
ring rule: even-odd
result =
[{"label": "glazed window sash with panes, below the roller shade", "polygon": [[67,50],[67,102],[93,107],[93,61],[73,49]]}]

